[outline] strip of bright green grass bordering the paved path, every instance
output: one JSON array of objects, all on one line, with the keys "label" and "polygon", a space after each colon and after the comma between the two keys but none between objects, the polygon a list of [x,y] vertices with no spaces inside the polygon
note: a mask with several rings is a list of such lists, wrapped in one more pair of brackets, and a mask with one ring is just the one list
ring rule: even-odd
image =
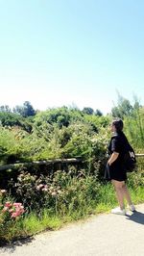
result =
[{"label": "strip of bright green grass bordering the paved path", "polygon": [[[134,204],[144,203],[144,188],[129,188]],[[44,209],[40,216],[32,212],[28,216],[16,221],[9,230],[0,233],[1,241],[10,242],[17,238],[28,237],[35,235],[44,230],[57,230],[65,223],[70,223],[78,219],[86,219],[90,215],[108,213],[111,208],[117,205],[115,192],[111,184],[100,186],[99,195],[95,201],[89,202],[89,205],[82,209],[74,211],[71,215],[67,214],[64,217],[54,215],[47,209]]]}]

